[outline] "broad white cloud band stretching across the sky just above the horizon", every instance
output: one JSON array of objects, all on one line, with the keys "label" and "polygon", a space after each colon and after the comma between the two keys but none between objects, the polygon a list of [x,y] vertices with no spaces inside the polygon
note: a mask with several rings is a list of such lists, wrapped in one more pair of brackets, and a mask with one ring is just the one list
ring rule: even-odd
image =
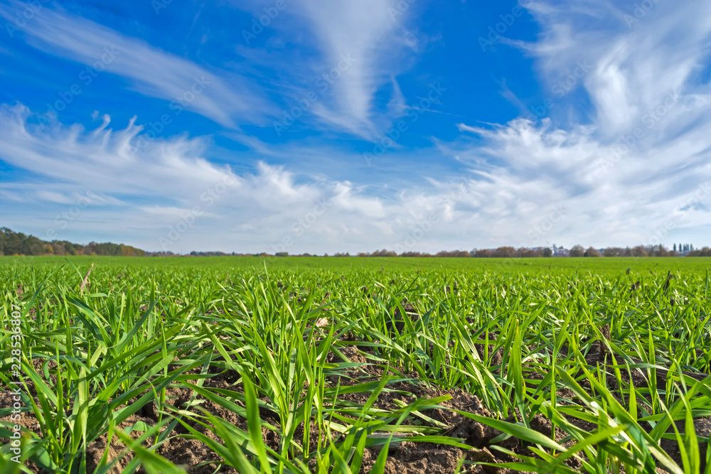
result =
[{"label": "broad white cloud band stretching across the sky just above the horizon", "polygon": [[[697,117],[709,103],[680,102],[673,120]],[[671,114],[663,118],[671,120]],[[593,127],[565,131],[523,119],[494,129],[461,124],[461,139],[439,149],[459,156],[469,171],[459,178],[428,178],[427,188],[402,185],[385,198],[368,186],[295,173],[258,156],[251,158],[253,171],[238,175],[205,158],[208,141],[201,138],[177,136],[133,149],[141,134],[133,122],[114,131],[107,117],[98,133],[31,122],[26,107],[0,107],[0,159],[41,176],[3,183],[0,195],[14,196],[20,213],[24,204],[33,206],[36,227],[25,232],[40,237],[56,230],[55,216],[75,207],[87,190],[90,205],[66,232],[99,240],[98,232],[159,249],[161,237],[187,222],[168,247],[175,252],[636,244],[669,220],[676,230],[711,225],[711,193],[689,201],[700,182],[711,179],[710,139],[696,128],[648,149],[665,129],[660,124],[604,169],[609,149],[596,140]],[[471,134],[479,135],[476,146],[466,139]],[[317,156],[319,150],[308,153]],[[38,198],[56,205],[38,211]],[[9,216],[8,224],[13,222]],[[18,228],[26,229],[26,222]]]}]

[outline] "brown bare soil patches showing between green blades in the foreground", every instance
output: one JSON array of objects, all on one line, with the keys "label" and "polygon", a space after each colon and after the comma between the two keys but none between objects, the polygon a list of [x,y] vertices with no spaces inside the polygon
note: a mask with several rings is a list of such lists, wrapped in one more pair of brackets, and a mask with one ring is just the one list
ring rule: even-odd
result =
[{"label": "brown bare soil patches showing between green blades in the foreground", "polygon": [[[409,303],[408,306],[410,306]],[[410,313],[410,311],[415,313],[415,308],[412,306],[408,308],[406,306],[405,311],[408,313]],[[397,322],[399,323],[400,321]],[[391,329],[402,330],[402,328],[397,326]],[[492,337],[496,338],[495,335],[490,336],[490,338]],[[346,340],[348,340],[348,338],[346,338]],[[348,361],[363,364],[363,366],[343,372],[341,376],[332,375],[331,377],[328,377],[326,383],[330,384],[332,387],[339,384],[341,386],[353,386],[363,382],[379,380],[384,375],[383,368],[375,365],[373,361],[374,353],[370,350],[370,348],[356,347],[358,341],[351,341],[351,343],[352,345],[336,348],[339,352],[341,352],[343,357],[341,357],[341,355],[337,355],[335,351],[331,352],[328,356],[328,362]],[[483,349],[483,344],[476,344],[476,350],[480,352],[482,357],[484,352]],[[493,355],[494,361],[492,362],[494,365],[502,363],[503,354],[500,352],[501,350],[499,353]],[[591,350],[587,353],[586,360],[590,365],[594,365],[597,362],[604,360],[606,355],[609,357],[609,354],[605,352],[604,344],[601,341],[596,341],[596,343],[593,343]],[[35,365],[38,371],[41,370],[41,362],[41,360],[36,361]],[[193,370],[193,373],[196,373],[196,370]],[[474,395],[459,389],[442,390],[431,387],[424,384],[424,382],[419,382],[415,374],[406,374],[405,376],[412,380],[387,385],[386,389],[379,394],[374,406],[384,410],[395,410],[400,408],[400,405],[397,404],[397,402],[405,402],[406,404],[409,404],[414,402],[416,399],[448,395],[451,399],[441,403],[443,408],[429,409],[422,412],[425,416],[435,420],[438,424],[430,423],[429,421],[418,419],[416,417],[407,419],[405,424],[413,424],[417,421],[417,423],[424,426],[442,427],[442,425],[444,425],[444,435],[451,438],[460,438],[463,443],[473,446],[473,448],[462,449],[436,443],[414,443],[412,441],[407,441],[407,439],[402,439],[390,446],[385,465],[385,473],[449,474],[454,473],[463,460],[486,463],[506,463],[516,460],[513,456],[508,456],[505,453],[501,453],[501,451],[497,451],[492,448],[491,441],[493,438],[496,438],[496,436],[501,434],[500,431],[451,411],[451,409],[456,409],[476,413],[481,416],[492,416],[486,406],[482,406],[479,399],[477,399]],[[206,379],[204,387],[240,391],[241,384],[235,385],[237,379],[239,379],[239,377],[234,372],[225,371],[219,374],[214,374],[210,379]],[[614,377],[611,377],[608,382],[610,387],[613,387],[614,384],[616,384]],[[629,376],[627,376],[625,372],[623,372],[623,382],[630,382]],[[633,371],[631,383],[636,387],[644,387],[647,384],[647,380],[641,372]],[[584,382],[582,382],[582,384],[584,386]],[[30,388],[31,395],[34,397],[35,394],[33,393],[33,387]],[[587,388],[589,389],[589,387]],[[568,397],[570,399],[574,397],[572,392],[566,393],[565,391],[561,391],[560,394],[562,397]],[[192,396],[193,393],[188,388],[169,388],[167,390],[166,402],[176,408],[184,408],[185,404],[190,401]],[[370,392],[341,394],[338,399],[344,402],[364,404],[368,400],[368,397],[370,397]],[[222,406],[205,400],[200,396],[196,397],[196,399],[201,400],[201,406],[215,416],[225,419],[238,428],[247,431],[246,419],[232,411],[224,409]],[[624,402],[624,400],[621,400],[621,402]],[[0,392],[0,406],[11,406],[11,404],[12,401],[9,392]],[[265,421],[273,424],[274,426],[279,426],[279,420],[276,418],[274,413],[264,410],[261,415]],[[0,418],[0,421],[10,421],[9,416]],[[134,414],[134,416],[124,421],[124,423],[117,428],[123,429],[127,426],[132,426],[137,421],[145,421],[146,424],[154,424],[158,421],[157,406],[155,402],[151,402],[150,404],[142,407],[136,414]],[[508,421],[515,421],[515,418],[511,416]],[[571,421],[581,429],[589,431],[595,428],[592,424],[588,424],[584,421]],[[35,419],[33,414],[23,414],[20,424],[26,426],[30,431],[33,431],[33,433],[36,433],[38,436],[41,436],[40,424]],[[205,436],[208,436],[215,441],[220,441],[217,436],[200,424],[193,422],[190,422],[190,424],[197,431],[204,433]],[[551,434],[553,434],[556,441],[560,442],[565,438],[565,434],[561,433],[559,430],[552,433],[552,424],[550,420],[546,419],[542,414],[536,415],[533,420],[530,421],[530,425],[533,429],[535,429],[535,431],[538,431],[545,436],[551,436]],[[685,431],[683,421],[678,421],[677,427],[680,432],[683,433]],[[695,429],[697,436],[711,436],[711,417],[695,419]],[[303,438],[303,430],[303,426],[299,426],[296,430],[295,440],[297,443],[300,443]],[[672,432],[671,429],[670,432]],[[270,448],[277,449],[279,447],[280,440],[277,433],[263,428],[262,437],[264,439],[264,443],[266,443]],[[317,433],[312,429],[310,436],[311,450],[316,448],[316,438]],[[563,444],[564,446],[571,446],[573,443],[573,441],[567,441]],[[498,443],[498,446],[507,448],[510,451],[523,454],[525,456],[533,456],[533,453],[528,449],[528,446],[530,445],[519,440],[518,438],[510,437],[505,441]],[[681,464],[680,452],[675,441],[663,440],[661,441],[661,446],[678,464]],[[707,443],[700,443],[702,460],[705,460],[706,446]],[[119,457],[124,451],[124,448],[125,446],[117,441],[117,438],[115,437],[108,446],[106,435],[103,435],[93,441],[89,446],[87,446],[86,449],[87,472],[93,473],[96,470],[97,465],[99,465],[105,452],[107,452],[107,457],[110,461]],[[181,424],[176,426],[176,429],[174,429],[171,433],[171,436],[156,449],[156,452],[171,460],[171,462],[176,465],[179,465],[188,473],[207,474],[214,473],[216,470],[220,473],[237,473],[237,470],[234,468],[221,464],[219,456],[217,456],[207,445],[205,445],[205,443],[191,439],[189,431]],[[373,467],[375,460],[378,457],[378,453],[380,453],[380,448],[377,447],[365,449],[365,453],[363,455],[363,465],[360,472],[370,472],[370,469]],[[112,472],[120,473],[129,463],[131,458],[131,453],[125,453],[124,456],[117,462],[117,465],[114,467]],[[568,460],[567,464],[573,469],[581,467],[579,461],[574,459]],[[46,472],[31,463],[28,465],[28,468],[30,468],[34,473]],[[703,469],[704,467],[702,466],[702,470]],[[137,472],[142,473],[143,470],[139,468]],[[473,465],[467,463],[461,466],[460,472],[513,474],[518,471],[508,470],[503,467],[498,468],[496,466]]]}]

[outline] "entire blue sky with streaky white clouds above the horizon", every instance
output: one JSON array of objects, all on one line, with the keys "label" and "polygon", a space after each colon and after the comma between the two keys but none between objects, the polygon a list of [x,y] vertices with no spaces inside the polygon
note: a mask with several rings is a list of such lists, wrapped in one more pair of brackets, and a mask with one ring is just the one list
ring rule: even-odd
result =
[{"label": "entire blue sky with streaky white clouds above the horizon", "polygon": [[2,225],[172,252],[711,243],[707,1],[209,3],[0,1]]}]

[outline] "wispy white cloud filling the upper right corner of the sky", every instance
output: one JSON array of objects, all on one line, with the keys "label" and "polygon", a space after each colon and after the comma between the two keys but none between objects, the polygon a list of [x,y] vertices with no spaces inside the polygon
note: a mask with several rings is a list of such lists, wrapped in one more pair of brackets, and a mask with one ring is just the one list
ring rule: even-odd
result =
[{"label": "wispy white cloud filling the upper right corner of the sky", "polygon": [[[530,11],[542,26],[539,40],[512,43],[536,58],[548,85],[576,72],[582,76],[578,83],[584,85],[594,107],[594,123],[607,139],[634,128],[670,92],[707,90],[707,84],[695,80],[711,46],[707,1],[619,6],[547,1],[533,2]],[[591,67],[581,73],[580,64]]]}]

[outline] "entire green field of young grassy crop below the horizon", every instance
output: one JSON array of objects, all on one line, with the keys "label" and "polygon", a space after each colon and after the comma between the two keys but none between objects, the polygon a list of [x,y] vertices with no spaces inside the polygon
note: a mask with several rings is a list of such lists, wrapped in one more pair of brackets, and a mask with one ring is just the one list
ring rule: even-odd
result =
[{"label": "entire green field of young grassy crop below the horizon", "polygon": [[0,257],[0,473],[711,473],[709,263]]}]

